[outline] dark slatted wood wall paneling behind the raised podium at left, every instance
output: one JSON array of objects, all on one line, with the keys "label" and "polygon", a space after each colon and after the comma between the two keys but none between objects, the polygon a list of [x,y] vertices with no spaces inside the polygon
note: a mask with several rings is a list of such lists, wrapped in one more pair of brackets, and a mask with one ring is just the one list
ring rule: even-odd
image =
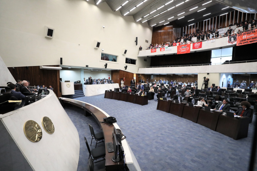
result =
[{"label": "dark slatted wood wall paneling behind the raised podium at left", "polygon": [[[51,67],[59,67],[59,65],[48,65]],[[54,88],[54,93],[61,96],[59,80],[60,71],[59,70],[44,70],[40,69],[39,66],[29,66],[29,67],[8,67],[10,73],[13,75],[15,80],[27,80],[30,82],[30,86],[45,85],[49,87],[52,85]],[[15,83],[14,83],[15,84]]]}]

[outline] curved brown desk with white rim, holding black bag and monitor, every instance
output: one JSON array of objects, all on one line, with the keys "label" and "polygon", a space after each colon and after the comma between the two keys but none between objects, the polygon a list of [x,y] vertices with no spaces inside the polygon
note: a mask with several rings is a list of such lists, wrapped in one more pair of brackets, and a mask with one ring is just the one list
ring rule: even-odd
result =
[{"label": "curved brown desk with white rim, holding black bag and monitor", "polygon": [[[102,132],[104,134],[105,137],[105,143],[106,142],[113,142],[113,135],[112,135],[112,131],[113,131],[113,126],[116,129],[120,129],[119,125],[117,125],[117,123],[113,123],[111,124],[111,126],[109,126],[110,124],[107,123],[100,123],[103,122],[103,118],[104,117],[109,117],[110,115],[108,115],[106,112],[104,112],[102,109],[91,105],[89,103],[85,103],[82,101],[78,101],[78,100],[74,100],[74,99],[69,99],[69,98],[62,98],[61,101],[63,103],[69,103],[71,105],[74,106],[78,106],[82,109],[85,110],[85,116],[90,116],[92,115],[97,121],[99,126],[102,129]],[[89,130],[88,130],[89,131]],[[125,164],[128,167],[129,170],[141,170],[137,160],[135,159],[135,156],[132,152],[132,150],[130,149],[130,146],[128,145],[126,139],[122,140],[122,146],[124,148],[124,153],[125,155]],[[112,156],[114,155],[114,152],[108,153],[107,148],[105,148],[105,170],[124,170],[124,162],[123,161],[119,161],[118,163],[113,162],[112,161]],[[119,169],[117,169],[119,168]]]}]

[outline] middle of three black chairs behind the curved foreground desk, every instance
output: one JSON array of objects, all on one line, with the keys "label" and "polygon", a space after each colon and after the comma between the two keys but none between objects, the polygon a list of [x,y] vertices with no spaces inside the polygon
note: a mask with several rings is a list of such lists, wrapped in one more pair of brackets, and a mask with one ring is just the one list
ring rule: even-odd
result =
[{"label": "middle of three black chairs behind the curved foreground desk", "polygon": [[[99,161],[105,160],[105,146],[97,147],[97,148],[94,148],[93,150],[90,150],[86,137],[84,137],[84,139],[85,139],[85,143],[88,148],[88,153],[89,153],[88,159],[91,157],[91,159],[93,159],[93,161],[100,159],[100,158],[104,158],[104,159],[99,160]],[[95,163],[97,163],[99,161],[96,161]]]}]

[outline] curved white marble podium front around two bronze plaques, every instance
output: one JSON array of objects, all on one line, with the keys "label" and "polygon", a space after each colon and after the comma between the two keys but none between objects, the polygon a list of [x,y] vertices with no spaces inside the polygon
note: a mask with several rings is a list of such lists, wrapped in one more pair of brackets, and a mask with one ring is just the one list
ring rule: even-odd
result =
[{"label": "curved white marble podium front around two bronze plaques", "polygon": [[[0,115],[9,134],[34,170],[77,170],[80,155],[79,134],[52,90],[45,98],[13,112]],[[48,134],[41,124],[47,116],[55,131]],[[42,139],[31,142],[23,132],[28,120],[37,122]]]}]

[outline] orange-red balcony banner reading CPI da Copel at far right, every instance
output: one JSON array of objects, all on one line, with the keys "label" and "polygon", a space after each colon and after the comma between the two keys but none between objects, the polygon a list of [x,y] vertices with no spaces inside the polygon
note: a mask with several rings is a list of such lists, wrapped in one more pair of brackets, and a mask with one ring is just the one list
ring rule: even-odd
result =
[{"label": "orange-red balcony banner reading CPI da Copel at far right", "polygon": [[236,46],[257,42],[257,29],[237,34]]}]

